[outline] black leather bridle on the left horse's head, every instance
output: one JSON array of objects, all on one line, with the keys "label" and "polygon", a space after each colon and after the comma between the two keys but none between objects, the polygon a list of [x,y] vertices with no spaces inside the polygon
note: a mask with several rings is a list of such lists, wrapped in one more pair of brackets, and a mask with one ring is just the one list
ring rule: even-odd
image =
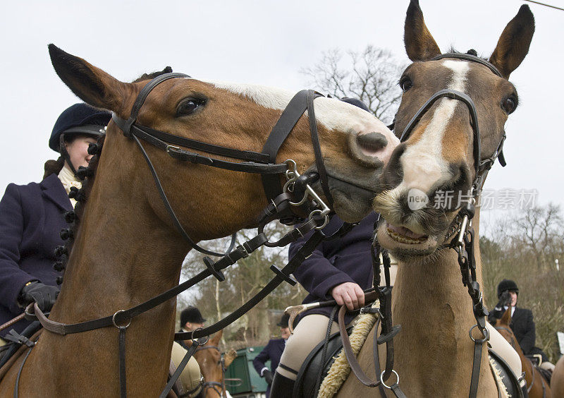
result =
[{"label": "black leather bridle on the left horse's head", "polygon": [[[280,176],[286,174],[287,171],[291,171],[289,161],[283,163],[276,163],[276,156],[280,150],[281,145],[284,143],[288,135],[290,135],[294,126],[300,120],[302,114],[305,111],[309,115],[309,130],[312,136],[312,145],[314,147],[315,154],[315,164],[319,174],[310,174],[310,178],[307,183],[312,183],[317,180],[319,176],[319,181],[321,188],[324,191],[326,199],[329,201],[329,205],[332,207],[333,198],[329,192],[329,180],[327,178],[327,173],[324,167],[323,158],[321,157],[321,149],[319,147],[319,137],[317,133],[317,123],[315,120],[314,99],[317,97],[322,97],[318,92],[313,90],[302,90],[298,92],[292,100],[288,103],[288,106],[282,112],[280,119],[278,119],[274,128],[272,128],[269,137],[266,139],[262,152],[253,152],[247,150],[237,150],[230,147],[223,147],[221,145],[214,145],[210,143],[204,143],[202,141],[192,140],[190,138],[181,137],[179,135],[173,135],[171,133],[166,133],[164,131],[159,131],[154,128],[147,126],[142,126],[137,122],[137,117],[141,110],[142,105],[145,103],[149,93],[157,87],[160,83],[172,78],[190,78],[190,76],[184,73],[164,73],[156,78],[152,79],[142,88],[137,99],[133,104],[133,108],[130,111],[130,116],[127,120],[121,119],[115,113],[112,114],[112,120],[116,125],[123,131],[123,135],[128,138],[135,140],[135,143],[140,148],[149,169],[151,170],[155,185],[159,190],[159,195],[161,195],[161,200],[163,201],[168,214],[173,220],[173,224],[180,234],[186,239],[192,248],[207,255],[215,255],[223,257],[231,252],[231,249],[235,243],[235,236],[231,240],[231,246],[226,253],[216,253],[213,251],[208,251],[197,245],[190,236],[186,233],[185,229],[180,224],[178,217],[176,217],[168,198],[164,193],[164,189],[161,186],[159,176],[155,171],[149,155],[145,152],[145,148],[140,143],[140,139],[145,142],[159,148],[166,152],[173,159],[177,159],[183,162],[192,162],[194,164],[203,164],[205,166],[217,167],[219,169],[226,169],[231,171],[241,171],[245,173],[261,174],[262,182],[264,186],[264,192],[266,193],[266,198],[269,203],[274,203],[275,207],[281,207],[278,211],[279,219],[284,224],[296,224],[302,219],[302,216],[295,215],[288,205],[281,206],[280,200],[276,200],[283,193],[280,188]],[[230,162],[222,159],[216,159],[213,157],[208,157],[200,155],[199,153],[190,152],[180,148],[186,147],[192,150],[198,150],[200,152],[207,152],[211,155],[220,155],[223,157],[229,157],[232,159],[243,160],[244,162]],[[288,199],[286,199],[288,200]],[[320,201],[317,198],[318,202]],[[326,209],[329,207],[324,206]],[[278,209],[277,209],[278,210]],[[326,211],[328,213],[328,211]]]}]

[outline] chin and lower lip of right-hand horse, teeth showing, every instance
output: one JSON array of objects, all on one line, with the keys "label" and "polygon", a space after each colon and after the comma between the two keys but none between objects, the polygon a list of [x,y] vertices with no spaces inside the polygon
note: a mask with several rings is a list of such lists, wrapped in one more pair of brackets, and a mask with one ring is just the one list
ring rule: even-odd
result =
[{"label": "chin and lower lip of right-hand horse, teeth showing", "polygon": [[445,234],[429,234],[424,236],[407,236],[391,228],[388,222],[381,222],[376,229],[376,239],[393,258],[402,263],[428,263],[436,259],[443,248]]}]

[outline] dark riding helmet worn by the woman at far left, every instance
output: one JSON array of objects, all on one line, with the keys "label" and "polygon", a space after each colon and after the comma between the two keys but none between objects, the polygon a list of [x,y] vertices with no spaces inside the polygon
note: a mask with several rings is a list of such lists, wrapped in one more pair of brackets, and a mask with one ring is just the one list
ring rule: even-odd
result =
[{"label": "dark riding helmet worn by the woman at far left", "polygon": [[49,138],[49,147],[61,153],[74,174],[76,170],[65,148],[65,141],[72,135],[92,135],[99,137],[106,133],[106,126],[111,120],[111,113],[102,111],[81,102],[68,107],[61,113]]}]

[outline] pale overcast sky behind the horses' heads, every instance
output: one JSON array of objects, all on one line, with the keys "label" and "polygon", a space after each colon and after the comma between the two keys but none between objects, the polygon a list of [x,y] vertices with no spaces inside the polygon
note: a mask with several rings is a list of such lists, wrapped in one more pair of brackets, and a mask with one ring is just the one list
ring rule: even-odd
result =
[{"label": "pale overcast sky behind the horses' heads", "polygon": [[[390,49],[407,61],[407,0],[372,1],[11,1],[4,3],[0,69],[0,191],[40,181],[57,116],[78,99],[59,80],[50,42],[130,81],[170,65],[195,78],[305,87],[299,71],[322,52]],[[441,50],[451,44],[487,56],[519,0],[420,0]],[[564,6],[563,0],[551,4]],[[486,187],[536,189],[537,200],[564,203],[562,91],[564,11],[529,4],[537,25],[529,55],[513,73],[520,107],[506,125],[508,166],[496,164]],[[399,76],[398,76],[399,78]]]}]

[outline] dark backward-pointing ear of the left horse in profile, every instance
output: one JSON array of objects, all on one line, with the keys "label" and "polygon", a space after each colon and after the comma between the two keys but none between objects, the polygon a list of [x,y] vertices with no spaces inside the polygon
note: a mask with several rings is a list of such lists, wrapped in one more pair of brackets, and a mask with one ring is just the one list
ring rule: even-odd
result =
[{"label": "dark backward-pointing ear of the left horse in profile", "polygon": [[59,78],[81,100],[97,107],[120,111],[128,92],[128,83],[123,83],[108,73],[49,44],[49,56]]}]

